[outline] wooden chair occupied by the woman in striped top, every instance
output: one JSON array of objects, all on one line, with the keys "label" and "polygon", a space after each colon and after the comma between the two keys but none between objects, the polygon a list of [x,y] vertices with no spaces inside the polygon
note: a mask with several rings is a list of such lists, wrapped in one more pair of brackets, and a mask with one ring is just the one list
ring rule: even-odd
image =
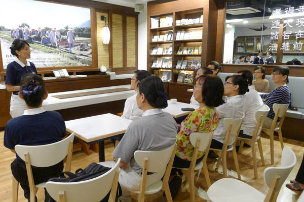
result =
[{"label": "wooden chair occupied by the woman in striped top", "polygon": [[[281,148],[283,149],[283,135],[282,135],[282,125],[285,119],[285,115],[288,109],[288,105],[274,104],[273,110],[275,112],[275,118],[272,122],[270,128],[262,128],[262,131],[269,135],[270,137],[270,154],[271,154],[271,164],[274,164],[274,132],[278,132],[279,139],[281,143]],[[278,118],[281,118],[279,125],[277,126]]]}]

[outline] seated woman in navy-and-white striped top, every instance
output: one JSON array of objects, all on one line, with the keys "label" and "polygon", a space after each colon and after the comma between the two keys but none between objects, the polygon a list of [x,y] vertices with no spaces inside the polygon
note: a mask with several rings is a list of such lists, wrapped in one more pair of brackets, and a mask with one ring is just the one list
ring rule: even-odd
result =
[{"label": "seated woman in navy-and-white striped top", "polygon": [[[263,128],[270,128],[275,118],[275,112],[273,110],[274,104],[289,105],[290,104],[290,92],[288,83],[289,68],[278,66],[275,67],[271,74],[272,81],[276,84],[276,89],[270,93],[260,94],[265,99],[264,104],[270,108],[267,118],[263,124]],[[280,118],[277,120],[277,125],[280,122]]]}]

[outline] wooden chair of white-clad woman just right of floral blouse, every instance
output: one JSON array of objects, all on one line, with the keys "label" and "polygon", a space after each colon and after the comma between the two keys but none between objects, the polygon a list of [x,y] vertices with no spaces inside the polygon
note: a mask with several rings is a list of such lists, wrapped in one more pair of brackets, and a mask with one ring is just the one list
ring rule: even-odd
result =
[{"label": "wooden chair of white-clad woman just right of floral blouse", "polygon": [[228,145],[228,142],[229,142],[229,139],[230,139],[231,135],[237,136],[239,134],[243,119],[244,119],[244,116],[240,119],[225,118],[224,119],[224,127],[227,130],[227,132],[226,132],[226,137],[225,137],[225,140],[224,140],[224,143],[223,143],[223,147],[222,147],[222,149],[210,148],[210,149],[215,150],[215,151],[221,151],[221,154],[218,157],[216,167],[218,168],[221,161],[222,161],[223,176],[224,177],[227,177],[227,160],[226,160],[227,151],[232,151],[233,158],[234,158],[235,165],[236,165],[236,170],[237,170],[237,173],[238,173],[238,178],[240,180],[241,180],[241,173],[240,173],[238,156],[237,156],[237,151],[236,151],[236,142],[237,142],[236,140],[237,140],[237,138],[235,139],[234,143],[230,146]]}]

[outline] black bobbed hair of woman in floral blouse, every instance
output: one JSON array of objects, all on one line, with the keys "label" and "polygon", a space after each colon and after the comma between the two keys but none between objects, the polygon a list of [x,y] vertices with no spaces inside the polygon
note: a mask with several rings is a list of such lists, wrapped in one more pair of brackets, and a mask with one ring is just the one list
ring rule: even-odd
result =
[{"label": "black bobbed hair of woman in floral blouse", "polygon": [[218,107],[225,103],[223,99],[224,85],[218,76],[203,74],[197,82],[202,84],[202,101],[206,106]]}]

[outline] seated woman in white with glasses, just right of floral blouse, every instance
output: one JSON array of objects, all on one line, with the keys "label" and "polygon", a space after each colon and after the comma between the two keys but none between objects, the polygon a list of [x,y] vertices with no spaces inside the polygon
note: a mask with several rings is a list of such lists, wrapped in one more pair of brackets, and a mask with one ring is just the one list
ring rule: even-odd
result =
[{"label": "seated woman in white with glasses, just right of floral blouse", "polygon": [[[221,149],[226,137],[224,127],[225,118],[238,119],[244,115],[244,94],[249,92],[247,78],[245,76],[233,75],[227,76],[224,85],[224,95],[227,96],[226,103],[217,107],[219,122],[218,127],[213,133],[213,139],[210,148]],[[230,136],[228,145],[232,145],[235,136]]]}]

